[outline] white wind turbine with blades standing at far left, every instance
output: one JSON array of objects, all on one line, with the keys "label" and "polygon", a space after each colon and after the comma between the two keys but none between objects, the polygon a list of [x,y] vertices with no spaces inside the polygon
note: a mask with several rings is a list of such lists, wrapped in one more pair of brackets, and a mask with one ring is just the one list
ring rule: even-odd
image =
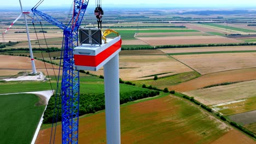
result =
[{"label": "white wind turbine with blades standing at far left", "polygon": [[[20,1],[20,0],[19,0]],[[7,31],[11,28],[11,26],[14,25],[14,23],[16,21],[18,21],[20,19],[20,17],[23,15],[24,16],[24,19],[25,19],[25,25],[26,25],[26,31],[27,31],[27,40],[28,40],[28,47],[30,48],[30,58],[31,58],[31,64],[32,64],[32,70],[33,70],[33,74],[36,74],[37,73],[37,70],[36,70],[36,65],[34,64],[34,57],[33,57],[33,52],[32,52],[32,47],[31,47],[31,42],[30,42],[30,32],[28,32],[28,26],[27,26],[27,17],[26,15],[27,14],[30,14],[30,12],[25,12],[23,11],[22,9],[22,5],[21,5],[21,1],[20,1],[20,9],[21,9],[21,14],[17,17],[17,19],[11,23],[11,25],[6,29],[6,31],[4,31],[2,33],[2,37],[4,39],[4,34],[7,33]]]}]

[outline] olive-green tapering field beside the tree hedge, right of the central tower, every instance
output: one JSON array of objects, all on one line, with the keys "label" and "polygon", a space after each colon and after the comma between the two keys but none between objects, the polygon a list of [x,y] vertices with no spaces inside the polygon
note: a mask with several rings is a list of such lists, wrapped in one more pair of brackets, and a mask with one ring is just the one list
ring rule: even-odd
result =
[{"label": "olive-green tapering field beside the tree hedge, right of the central tower", "polygon": [[[157,74],[156,74],[157,75]],[[154,87],[164,89],[165,87],[169,87],[172,85],[177,85],[178,83],[188,81],[191,79],[195,79],[196,77],[199,77],[200,74],[196,73],[195,71],[187,72],[187,73],[181,73],[166,77],[158,78],[158,80],[141,80],[141,81],[133,81],[133,83],[136,83],[136,85],[152,85]],[[171,89],[169,89],[171,90]]]}]

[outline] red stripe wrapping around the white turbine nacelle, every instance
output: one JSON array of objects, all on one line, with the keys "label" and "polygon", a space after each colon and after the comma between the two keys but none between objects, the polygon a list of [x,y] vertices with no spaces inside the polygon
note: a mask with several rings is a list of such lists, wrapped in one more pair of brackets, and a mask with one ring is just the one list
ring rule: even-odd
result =
[{"label": "red stripe wrapping around the white turbine nacelle", "polygon": [[105,59],[111,56],[114,52],[121,49],[122,40],[120,39],[117,43],[108,47],[106,50],[98,53],[97,56],[85,56],[85,55],[74,55],[75,65],[97,67]]}]

